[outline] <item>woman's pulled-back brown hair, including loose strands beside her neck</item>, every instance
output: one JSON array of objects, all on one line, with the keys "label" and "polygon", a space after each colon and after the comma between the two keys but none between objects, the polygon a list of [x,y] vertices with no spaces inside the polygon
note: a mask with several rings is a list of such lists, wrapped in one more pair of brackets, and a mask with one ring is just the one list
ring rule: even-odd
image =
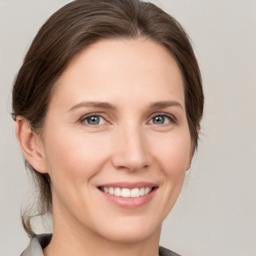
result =
[{"label": "woman's pulled-back brown hair, including loose strands beside her neck", "polygon": [[[41,26],[12,90],[12,115],[24,116],[40,134],[54,85],[80,49],[107,38],[146,38],[165,46],[176,59],[183,76],[185,110],[191,139],[197,147],[203,111],[199,67],[189,37],[182,26],[152,3],[140,0],[74,0],[52,14]],[[38,187],[37,214],[51,213],[48,174],[37,172],[26,159],[25,166]],[[22,215],[23,226],[33,235],[31,216]]]}]

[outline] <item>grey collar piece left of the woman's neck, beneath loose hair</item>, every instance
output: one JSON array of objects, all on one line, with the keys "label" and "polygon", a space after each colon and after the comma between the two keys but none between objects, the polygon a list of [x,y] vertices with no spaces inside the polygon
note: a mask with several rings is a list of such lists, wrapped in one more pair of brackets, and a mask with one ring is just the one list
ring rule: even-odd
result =
[{"label": "grey collar piece left of the woman's neck, beneath loose hair", "polygon": [[20,256],[43,256],[42,249],[46,247],[52,234],[35,234],[26,249],[20,254]]}]

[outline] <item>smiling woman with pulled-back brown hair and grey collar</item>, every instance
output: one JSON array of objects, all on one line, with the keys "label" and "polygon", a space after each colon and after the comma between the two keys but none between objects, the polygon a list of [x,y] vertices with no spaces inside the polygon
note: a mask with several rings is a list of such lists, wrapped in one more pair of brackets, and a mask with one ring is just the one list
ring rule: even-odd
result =
[{"label": "smiling woman with pulled-back brown hair and grey collar", "polygon": [[159,247],[197,146],[203,92],[180,24],[139,0],[75,0],[35,36],[12,92],[16,136],[53,232],[26,255]]}]

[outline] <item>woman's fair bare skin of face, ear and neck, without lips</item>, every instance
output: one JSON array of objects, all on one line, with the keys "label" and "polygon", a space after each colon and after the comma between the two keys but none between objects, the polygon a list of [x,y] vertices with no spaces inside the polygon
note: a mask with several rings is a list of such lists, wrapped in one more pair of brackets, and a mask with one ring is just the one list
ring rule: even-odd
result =
[{"label": "woman's fair bare skin of face, ear and neck, without lips", "polygon": [[[171,104],[150,107],[162,101]],[[91,113],[102,116],[99,124],[88,123]],[[163,124],[154,123],[159,115]],[[182,76],[163,46],[103,40],[83,49],[57,82],[42,134],[18,116],[16,135],[30,164],[51,178],[53,236],[46,256],[158,255],[161,223],[193,149]],[[98,189],[120,181],[153,182],[157,189],[142,206],[121,207]]]}]

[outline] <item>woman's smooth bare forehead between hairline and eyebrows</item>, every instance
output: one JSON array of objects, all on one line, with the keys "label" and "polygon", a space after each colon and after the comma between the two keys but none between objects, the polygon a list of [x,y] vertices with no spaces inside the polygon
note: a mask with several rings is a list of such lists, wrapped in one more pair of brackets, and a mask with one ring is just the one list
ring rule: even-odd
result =
[{"label": "woman's smooth bare forehead between hairline and eyebrows", "polygon": [[139,39],[101,40],[73,57],[57,82],[52,101],[115,103],[122,98],[138,104],[143,96],[148,101],[175,99],[184,106],[183,94],[179,67],[162,45]]}]

